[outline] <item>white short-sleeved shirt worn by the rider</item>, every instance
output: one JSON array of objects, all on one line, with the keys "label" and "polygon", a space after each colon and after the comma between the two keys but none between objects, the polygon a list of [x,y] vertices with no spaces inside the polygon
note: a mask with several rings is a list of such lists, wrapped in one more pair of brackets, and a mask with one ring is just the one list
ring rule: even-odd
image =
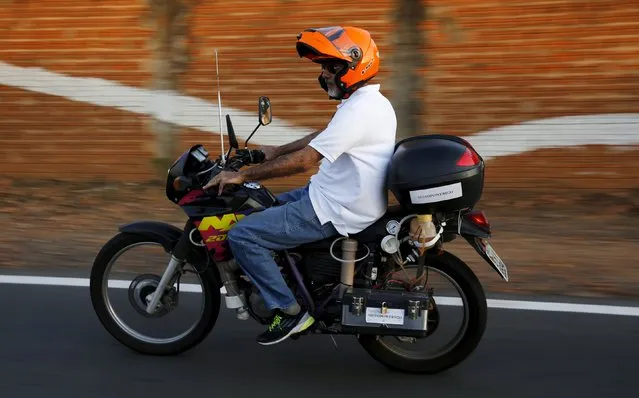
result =
[{"label": "white short-sleeved shirt worn by the rider", "polygon": [[386,170],[397,118],[379,84],[364,86],[337,106],[309,145],[324,156],[309,196],[319,221],[344,236],[362,231],[386,212]]}]

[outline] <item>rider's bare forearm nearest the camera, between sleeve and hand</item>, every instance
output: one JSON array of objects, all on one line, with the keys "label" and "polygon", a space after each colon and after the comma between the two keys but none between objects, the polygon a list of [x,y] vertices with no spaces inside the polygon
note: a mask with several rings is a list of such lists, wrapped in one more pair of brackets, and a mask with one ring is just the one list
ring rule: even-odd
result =
[{"label": "rider's bare forearm nearest the camera, between sleeve and hand", "polygon": [[309,169],[311,167],[310,165],[314,164],[317,160],[313,159],[313,156],[320,155],[315,155],[309,151],[299,150],[249,169],[244,169],[240,173],[244,175],[247,181],[289,176]]}]

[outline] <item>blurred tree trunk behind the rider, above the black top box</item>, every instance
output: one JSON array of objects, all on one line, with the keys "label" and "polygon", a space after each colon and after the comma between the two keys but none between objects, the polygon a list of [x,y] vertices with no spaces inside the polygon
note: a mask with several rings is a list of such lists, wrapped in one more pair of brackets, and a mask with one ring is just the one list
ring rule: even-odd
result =
[{"label": "blurred tree trunk behind the rider, above the black top box", "polygon": [[397,113],[398,139],[424,134],[425,32],[420,29],[426,19],[426,7],[420,0],[396,0],[394,11],[392,102]]}]

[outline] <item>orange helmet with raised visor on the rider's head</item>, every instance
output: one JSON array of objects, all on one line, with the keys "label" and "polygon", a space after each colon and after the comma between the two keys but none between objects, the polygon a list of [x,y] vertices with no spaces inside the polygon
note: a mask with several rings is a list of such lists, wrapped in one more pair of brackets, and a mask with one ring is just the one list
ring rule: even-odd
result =
[{"label": "orange helmet with raised visor on the rider's head", "polygon": [[[379,71],[379,50],[370,33],[352,26],[306,29],[297,35],[297,53],[313,62],[338,61],[345,68],[335,82],[346,96],[372,79]],[[324,90],[326,84],[320,84]]]}]

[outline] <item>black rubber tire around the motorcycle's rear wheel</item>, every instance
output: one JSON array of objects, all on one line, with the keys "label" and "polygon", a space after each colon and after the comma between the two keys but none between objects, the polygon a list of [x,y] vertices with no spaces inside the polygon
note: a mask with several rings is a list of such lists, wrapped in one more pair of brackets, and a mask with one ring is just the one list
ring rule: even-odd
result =
[{"label": "black rubber tire around the motorcycle's rear wheel", "polygon": [[[374,335],[360,335],[358,341],[375,360],[406,373],[434,374],[445,371],[466,359],[479,345],[486,329],[488,308],[481,283],[473,271],[453,254],[444,252],[427,264],[457,282],[468,301],[468,325],[459,343],[449,352],[432,359],[414,359],[389,349]],[[435,302],[437,297],[435,296]],[[428,338],[425,338],[428,341]]]}]

